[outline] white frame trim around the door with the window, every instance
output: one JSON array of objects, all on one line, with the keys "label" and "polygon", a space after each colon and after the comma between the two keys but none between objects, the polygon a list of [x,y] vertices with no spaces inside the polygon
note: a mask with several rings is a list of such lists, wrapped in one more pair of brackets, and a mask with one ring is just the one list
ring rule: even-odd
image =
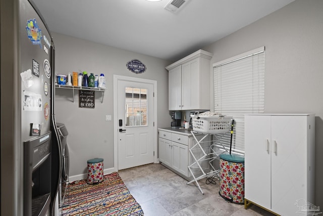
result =
[{"label": "white frame trim around the door with the window", "polygon": [[157,81],[151,79],[136,78],[130,76],[113,75],[113,130],[114,130],[114,170],[118,171],[118,133],[119,133],[119,120],[118,120],[118,81],[135,81],[149,83],[153,85],[153,161],[157,163]]}]

